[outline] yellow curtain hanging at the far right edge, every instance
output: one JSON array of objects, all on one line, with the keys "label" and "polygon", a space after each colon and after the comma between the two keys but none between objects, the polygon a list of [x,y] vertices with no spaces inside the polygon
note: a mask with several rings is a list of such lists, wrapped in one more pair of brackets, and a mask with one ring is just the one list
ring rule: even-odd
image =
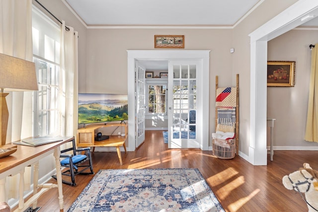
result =
[{"label": "yellow curtain hanging at the far right edge", "polygon": [[312,49],[305,141],[318,142],[318,44]]}]

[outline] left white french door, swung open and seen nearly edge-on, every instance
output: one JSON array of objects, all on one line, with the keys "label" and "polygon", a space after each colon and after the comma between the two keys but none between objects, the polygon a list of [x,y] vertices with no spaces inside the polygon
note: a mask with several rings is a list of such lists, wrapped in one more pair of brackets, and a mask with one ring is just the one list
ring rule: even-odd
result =
[{"label": "left white french door, swung open and seen nearly edge-on", "polygon": [[145,69],[138,65],[136,61],[136,147],[145,141],[145,112],[146,112],[146,83]]}]

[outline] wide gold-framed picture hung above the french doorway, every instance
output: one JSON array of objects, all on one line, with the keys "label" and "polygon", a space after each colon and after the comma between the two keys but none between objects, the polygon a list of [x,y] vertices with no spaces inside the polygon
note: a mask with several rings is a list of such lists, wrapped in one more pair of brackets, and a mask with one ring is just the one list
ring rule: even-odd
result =
[{"label": "wide gold-framed picture hung above the french doorway", "polygon": [[155,48],[184,49],[184,35],[155,35]]}]

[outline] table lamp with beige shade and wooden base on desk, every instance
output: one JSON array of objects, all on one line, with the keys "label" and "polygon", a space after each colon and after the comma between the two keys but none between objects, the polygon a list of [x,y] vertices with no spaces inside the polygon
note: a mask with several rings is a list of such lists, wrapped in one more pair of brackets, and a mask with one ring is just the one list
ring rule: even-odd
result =
[{"label": "table lamp with beige shade and wooden base on desk", "polygon": [[5,144],[8,127],[8,107],[5,91],[38,90],[35,64],[23,59],[0,54],[0,133],[1,145]]}]

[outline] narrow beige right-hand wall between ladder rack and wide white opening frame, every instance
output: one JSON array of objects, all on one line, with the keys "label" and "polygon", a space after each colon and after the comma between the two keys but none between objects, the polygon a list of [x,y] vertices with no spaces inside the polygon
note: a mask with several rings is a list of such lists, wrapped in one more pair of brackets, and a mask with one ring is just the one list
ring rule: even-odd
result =
[{"label": "narrow beige right-hand wall between ladder rack and wide white opening frame", "polygon": [[[255,29],[297,0],[264,0],[233,29],[233,76],[239,73],[239,150],[248,155],[250,121],[250,37]],[[235,78],[233,77],[233,80]],[[233,82],[234,83],[234,82]]]}]

